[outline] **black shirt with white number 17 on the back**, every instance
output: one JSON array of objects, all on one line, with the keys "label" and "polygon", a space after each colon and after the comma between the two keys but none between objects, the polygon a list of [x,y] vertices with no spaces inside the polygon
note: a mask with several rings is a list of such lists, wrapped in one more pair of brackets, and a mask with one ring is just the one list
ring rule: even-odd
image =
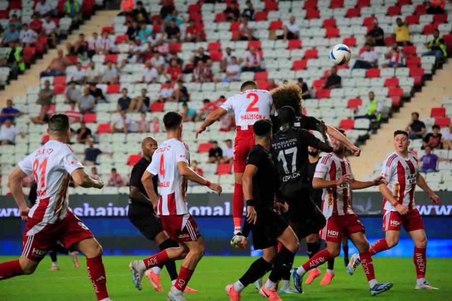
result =
[{"label": "black shirt with white number 17 on the back", "polygon": [[320,140],[301,128],[288,128],[273,135],[272,156],[278,168],[279,192],[283,197],[310,187],[307,178],[310,145],[317,148]]}]

